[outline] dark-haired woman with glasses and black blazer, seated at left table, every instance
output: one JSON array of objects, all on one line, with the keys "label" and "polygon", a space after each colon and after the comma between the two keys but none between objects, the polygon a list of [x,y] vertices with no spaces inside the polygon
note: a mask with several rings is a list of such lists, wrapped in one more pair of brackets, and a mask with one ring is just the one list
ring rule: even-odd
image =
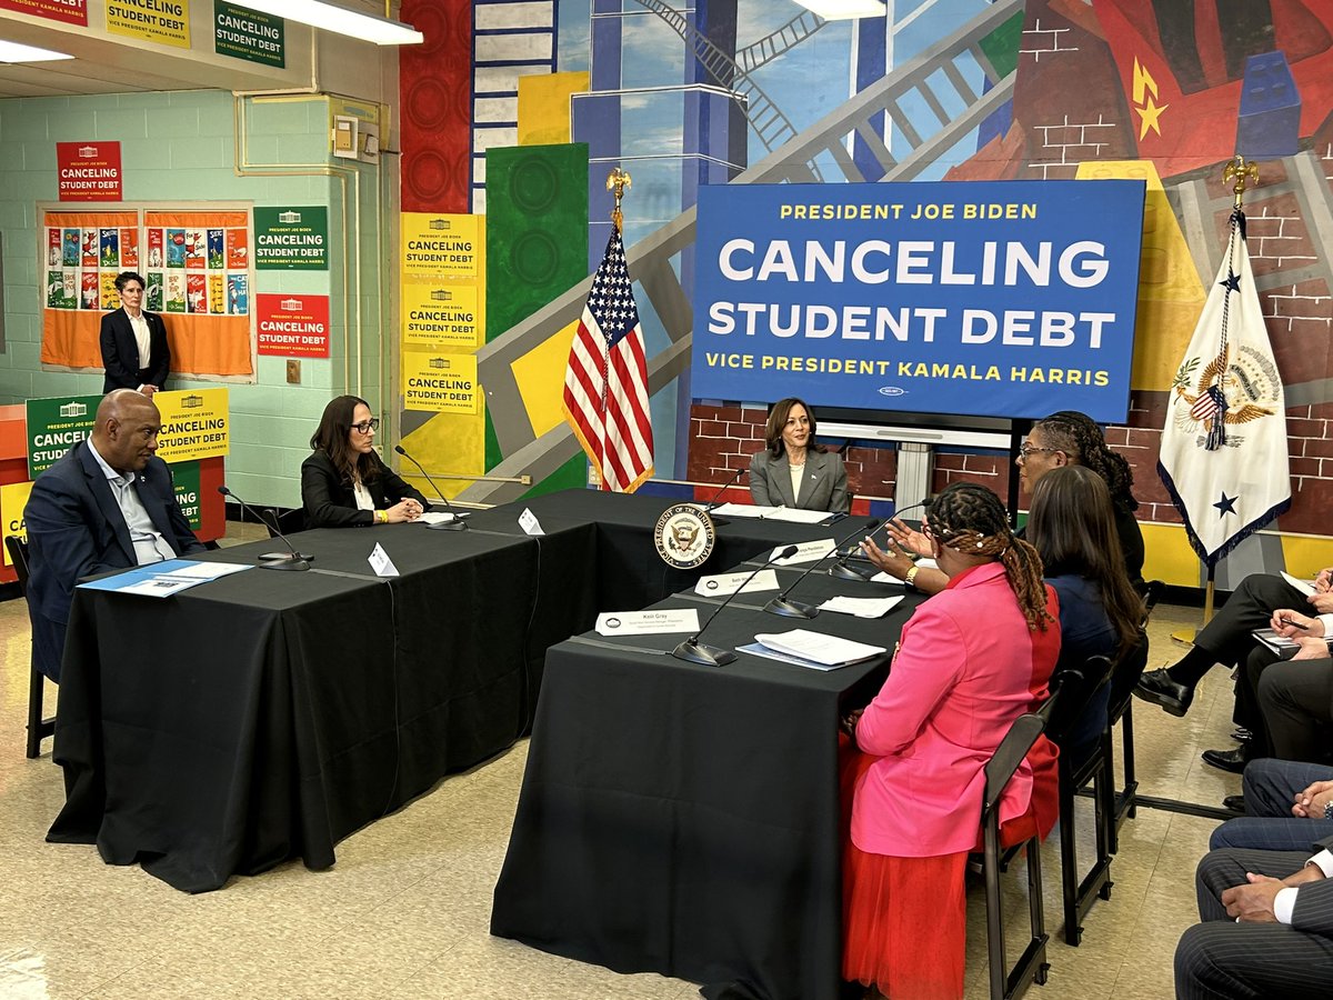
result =
[{"label": "dark-haired woman with glasses and black blazer, seated at left table", "polygon": [[375,452],[380,421],[356,396],[324,407],[311,437],[313,453],[301,463],[301,504],[307,528],[365,528],[415,521],[431,504]]}]

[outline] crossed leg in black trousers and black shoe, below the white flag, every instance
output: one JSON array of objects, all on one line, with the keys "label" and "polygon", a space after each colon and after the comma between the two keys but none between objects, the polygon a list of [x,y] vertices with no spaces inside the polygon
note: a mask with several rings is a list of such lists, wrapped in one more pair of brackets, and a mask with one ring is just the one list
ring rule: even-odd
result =
[{"label": "crossed leg in black trousers and black shoe, below the white flag", "polygon": [[1222,609],[1194,636],[1194,648],[1170,667],[1144,673],[1134,693],[1172,715],[1185,715],[1194,699],[1194,687],[1213,664],[1234,667],[1254,643],[1250,632],[1266,628],[1274,611],[1308,604],[1305,595],[1281,576],[1246,576]]}]

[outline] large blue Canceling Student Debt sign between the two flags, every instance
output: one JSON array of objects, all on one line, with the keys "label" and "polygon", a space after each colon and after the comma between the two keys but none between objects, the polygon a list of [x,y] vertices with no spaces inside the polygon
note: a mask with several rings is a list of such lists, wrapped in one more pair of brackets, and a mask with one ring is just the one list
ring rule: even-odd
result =
[{"label": "large blue Canceling Student Debt sign between the two flags", "polygon": [[1144,183],[698,192],[696,399],[1122,421]]}]

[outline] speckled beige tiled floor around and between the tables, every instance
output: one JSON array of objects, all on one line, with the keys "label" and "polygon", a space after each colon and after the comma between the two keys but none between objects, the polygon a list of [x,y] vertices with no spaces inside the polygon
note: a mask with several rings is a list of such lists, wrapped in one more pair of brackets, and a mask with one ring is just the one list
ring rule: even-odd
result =
[{"label": "speckled beige tiled floor around and between the tables", "polygon": [[[1197,612],[1158,607],[1152,665],[1174,660],[1169,632]],[[63,801],[49,741],[23,757],[28,623],[0,604],[0,997],[607,997],[697,996],[693,984],[621,976],[491,937],[491,892],[504,857],[527,744],[339,845],[337,865],[300,863],[188,896],[92,847],[47,844]],[[51,697],[55,688],[48,687]],[[1148,795],[1217,804],[1240,780],[1204,765],[1230,747],[1230,681],[1214,669],[1177,720],[1137,704],[1138,772]],[[1086,807],[1086,801],[1080,803]],[[1086,823],[1082,824],[1088,827]],[[1214,824],[1141,809],[1112,865],[1114,891],[1085,921],[1084,944],[1058,931],[1057,837],[1044,851],[1050,980],[1046,1000],[1169,997],[1172,952],[1194,913],[1193,871]],[[1017,935],[1020,877],[1006,877]],[[969,903],[968,996],[986,996],[984,900]],[[1016,937],[1014,937],[1016,940]]]}]

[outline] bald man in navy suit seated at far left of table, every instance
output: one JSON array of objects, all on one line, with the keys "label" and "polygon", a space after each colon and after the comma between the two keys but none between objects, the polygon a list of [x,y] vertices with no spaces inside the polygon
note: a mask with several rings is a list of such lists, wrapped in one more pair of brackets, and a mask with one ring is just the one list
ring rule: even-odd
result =
[{"label": "bald man in navy suit seated at far left of table", "polygon": [[97,407],[92,436],[32,484],[23,512],[32,657],[55,681],[80,577],[204,551],[176,503],[167,463],[155,455],[160,428],[151,399],[116,389]]}]

